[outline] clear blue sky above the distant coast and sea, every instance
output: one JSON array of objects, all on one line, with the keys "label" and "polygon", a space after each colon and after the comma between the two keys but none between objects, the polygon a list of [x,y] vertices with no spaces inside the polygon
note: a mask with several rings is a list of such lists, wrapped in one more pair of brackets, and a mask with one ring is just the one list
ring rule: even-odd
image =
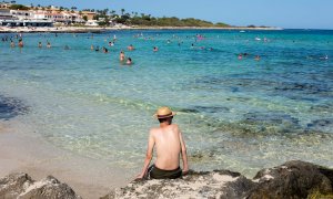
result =
[{"label": "clear blue sky above the distant coast and sea", "polygon": [[154,17],[198,18],[232,25],[333,29],[333,0],[17,0],[22,4],[125,9]]}]

